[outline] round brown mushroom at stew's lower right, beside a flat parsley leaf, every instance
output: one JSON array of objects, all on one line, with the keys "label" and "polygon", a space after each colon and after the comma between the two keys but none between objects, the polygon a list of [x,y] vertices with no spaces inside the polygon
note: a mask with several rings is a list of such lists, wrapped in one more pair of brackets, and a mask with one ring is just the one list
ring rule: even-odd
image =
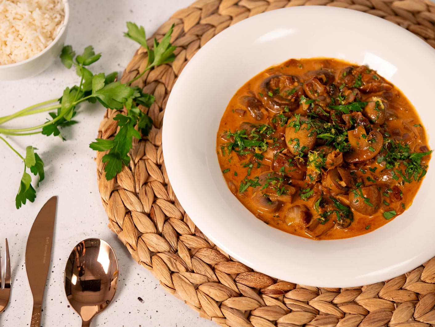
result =
[{"label": "round brown mushroom at stew's lower right, beside a flat parsley leaf", "polygon": [[376,185],[349,191],[351,208],[365,216],[374,215],[378,211],[381,201],[381,192],[379,192]]}]

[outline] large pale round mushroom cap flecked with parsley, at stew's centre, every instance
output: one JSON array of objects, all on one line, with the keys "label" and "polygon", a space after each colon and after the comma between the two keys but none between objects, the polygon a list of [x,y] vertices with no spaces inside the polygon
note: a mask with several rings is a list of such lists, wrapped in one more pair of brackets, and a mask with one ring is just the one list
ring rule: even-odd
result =
[{"label": "large pale round mushroom cap flecked with parsley, at stew's centre", "polygon": [[317,132],[307,122],[304,116],[294,117],[285,128],[285,143],[294,155],[307,154],[316,145]]}]

